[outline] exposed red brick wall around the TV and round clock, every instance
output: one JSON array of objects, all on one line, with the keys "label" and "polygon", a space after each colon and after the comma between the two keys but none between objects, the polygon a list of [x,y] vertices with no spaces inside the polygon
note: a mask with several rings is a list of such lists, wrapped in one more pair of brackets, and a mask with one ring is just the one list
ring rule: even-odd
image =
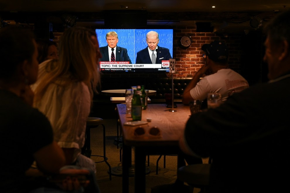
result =
[{"label": "exposed red brick wall around the TV and round clock", "polygon": [[[190,35],[192,37],[192,44],[189,48],[183,49],[179,46],[179,38],[183,35]],[[62,32],[54,32],[54,42],[59,44]],[[193,77],[195,73],[205,63],[201,50],[203,44],[209,44],[214,40],[223,40],[229,47],[229,67],[236,72],[241,71],[241,56],[243,54],[241,48],[242,35],[240,34],[228,34],[228,37],[224,37],[222,34],[215,34],[213,32],[196,32],[196,25],[192,26],[175,26],[173,28],[173,58],[176,59],[176,73],[173,77]],[[120,74],[120,73],[105,73],[105,77],[171,77],[171,73],[165,74]]]}]

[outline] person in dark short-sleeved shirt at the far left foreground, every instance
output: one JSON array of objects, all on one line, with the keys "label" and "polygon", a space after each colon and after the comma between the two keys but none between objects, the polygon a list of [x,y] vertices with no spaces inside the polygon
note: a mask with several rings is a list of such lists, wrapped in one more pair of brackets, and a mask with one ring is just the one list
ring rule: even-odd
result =
[{"label": "person in dark short-sleeved shirt at the far left foreground", "polygon": [[25,190],[25,172],[35,160],[43,173],[59,173],[62,149],[53,141],[50,122],[31,107],[30,84],[37,78],[37,45],[33,34],[18,27],[0,29],[0,187]]}]

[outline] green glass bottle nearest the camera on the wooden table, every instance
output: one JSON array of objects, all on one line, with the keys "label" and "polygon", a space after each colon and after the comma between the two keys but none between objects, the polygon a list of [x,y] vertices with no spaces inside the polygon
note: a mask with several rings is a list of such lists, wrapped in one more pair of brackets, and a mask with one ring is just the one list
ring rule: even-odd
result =
[{"label": "green glass bottle nearest the camera on the wooden table", "polygon": [[137,86],[137,89],[134,90],[131,116],[133,120],[141,120],[142,118],[141,86]]}]

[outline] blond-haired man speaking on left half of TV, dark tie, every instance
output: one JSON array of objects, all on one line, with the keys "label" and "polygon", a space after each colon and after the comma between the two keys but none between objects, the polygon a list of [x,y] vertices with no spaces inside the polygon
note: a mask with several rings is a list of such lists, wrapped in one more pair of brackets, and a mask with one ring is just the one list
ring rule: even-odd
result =
[{"label": "blond-haired man speaking on left half of TV, dark tie", "polygon": [[127,49],[117,46],[119,39],[116,32],[108,32],[106,35],[106,41],[108,43],[108,46],[100,47],[100,52],[102,54],[102,58],[100,58],[101,62],[120,61],[129,62],[130,64],[132,64]]}]

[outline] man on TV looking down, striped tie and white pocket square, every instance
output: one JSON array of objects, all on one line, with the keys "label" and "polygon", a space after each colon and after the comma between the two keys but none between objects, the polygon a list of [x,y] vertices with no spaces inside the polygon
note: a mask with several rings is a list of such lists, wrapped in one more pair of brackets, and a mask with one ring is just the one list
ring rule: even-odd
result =
[{"label": "man on TV looking down, striped tie and white pocket square", "polygon": [[168,48],[158,46],[159,35],[155,31],[146,34],[148,47],[137,52],[136,64],[161,64],[162,60],[171,58]]}]

